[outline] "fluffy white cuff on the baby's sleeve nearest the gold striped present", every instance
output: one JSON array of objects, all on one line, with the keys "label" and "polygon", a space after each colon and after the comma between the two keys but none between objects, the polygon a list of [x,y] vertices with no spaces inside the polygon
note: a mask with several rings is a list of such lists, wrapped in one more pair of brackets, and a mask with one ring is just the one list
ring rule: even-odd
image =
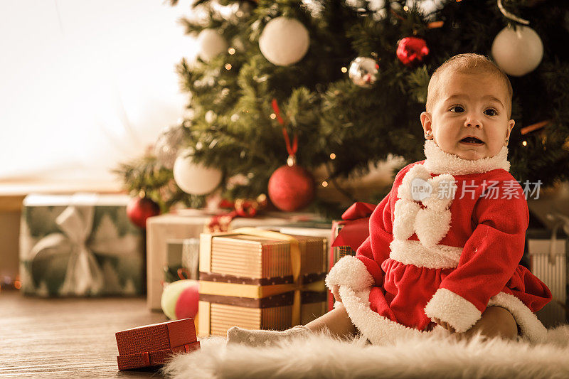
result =
[{"label": "fluffy white cuff on the baby's sleeve nearest the gold striped present", "polygon": [[364,289],[373,286],[375,283],[376,280],[368,272],[366,265],[351,255],[341,258],[326,275],[326,287],[329,289],[335,285]]}]

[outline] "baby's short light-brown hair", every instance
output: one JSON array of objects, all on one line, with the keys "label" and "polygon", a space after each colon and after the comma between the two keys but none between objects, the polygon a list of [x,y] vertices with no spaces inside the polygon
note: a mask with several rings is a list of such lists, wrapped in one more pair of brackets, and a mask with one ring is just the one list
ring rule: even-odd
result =
[{"label": "baby's short light-brown hair", "polygon": [[511,117],[511,97],[513,90],[508,75],[504,73],[501,68],[496,65],[490,58],[480,54],[459,54],[454,55],[442,63],[434,73],[432,73],[427,90],[427,112],[432,111],[439,97],[439,88],[441,86],[441,76],[443,73],[451,71],[452,73],[486,73],[495,75],[499,80],[504,82],[508,97],[506,98],[506,110],[508,111],[508,118]]}]

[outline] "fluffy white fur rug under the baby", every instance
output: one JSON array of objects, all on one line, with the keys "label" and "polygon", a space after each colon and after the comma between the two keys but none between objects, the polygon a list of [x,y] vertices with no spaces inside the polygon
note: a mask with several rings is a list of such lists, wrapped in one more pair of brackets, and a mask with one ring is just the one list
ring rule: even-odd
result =
[{"label": "fluffy white fur rug under the baby", "polygon": [[186,378],[569,378],[569,326],[548,332],[548,343],[499,338],[453,341],[415,338],[391,346],[324,334],[270,348],[201,340],[201,351],[174,357],[163,372]]}]

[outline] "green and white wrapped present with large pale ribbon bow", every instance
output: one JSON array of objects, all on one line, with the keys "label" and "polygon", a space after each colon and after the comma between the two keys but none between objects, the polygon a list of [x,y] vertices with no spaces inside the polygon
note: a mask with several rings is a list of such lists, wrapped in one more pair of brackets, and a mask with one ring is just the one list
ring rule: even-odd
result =
[{"label": "green and white wrapped present with large pale ribbon bow", "polygon": [[144,293],[144,237],[126,213],[128,196],[29,195],[23,201],[20,272],[24,294]]}]

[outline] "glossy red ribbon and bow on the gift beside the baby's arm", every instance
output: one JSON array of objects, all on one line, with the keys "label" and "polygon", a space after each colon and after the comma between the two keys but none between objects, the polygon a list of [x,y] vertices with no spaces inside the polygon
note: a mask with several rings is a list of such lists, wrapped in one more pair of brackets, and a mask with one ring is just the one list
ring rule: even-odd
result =
[{"label": "glossy red ribbon and bow on the gift beside the baby's arm", "polygon": [[369,235],[369,218],[374,209],[376,209],[375,204],[361,202],[353,203],[346,209],[342,215],[344,227],[334,239],[332,246],[349,246],[354,251],[358,250]]}]

